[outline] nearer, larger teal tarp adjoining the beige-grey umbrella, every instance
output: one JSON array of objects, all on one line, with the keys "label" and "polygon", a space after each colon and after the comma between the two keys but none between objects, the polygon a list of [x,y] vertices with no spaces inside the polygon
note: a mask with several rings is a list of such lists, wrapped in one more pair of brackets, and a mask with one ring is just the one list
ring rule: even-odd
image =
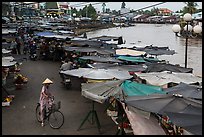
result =
[{"label": "nearer, larger teal tarp adjoining the beige-grey umbrella", "polygon": [[121,85],[127,96],[148,96],[150,94],[166,94],[161,87],[140,84],[134,81],[125,80]]}]

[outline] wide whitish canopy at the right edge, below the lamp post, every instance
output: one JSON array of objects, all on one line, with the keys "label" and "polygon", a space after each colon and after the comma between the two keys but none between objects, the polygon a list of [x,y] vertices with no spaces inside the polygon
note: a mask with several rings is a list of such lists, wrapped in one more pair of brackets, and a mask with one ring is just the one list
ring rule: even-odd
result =
[{"label": "wide whitish canopy at the right edge, below the lamp post", "polygon": [[168,83],[180,83],[184,82],[186,84],[202,82],[202,78],[197,77],[191,73],[176,73],[176,72],[151,72],[151,73],[141,73],[136,74],[141,79],[145,79],[147,83],[155,86],[163,86]]}]

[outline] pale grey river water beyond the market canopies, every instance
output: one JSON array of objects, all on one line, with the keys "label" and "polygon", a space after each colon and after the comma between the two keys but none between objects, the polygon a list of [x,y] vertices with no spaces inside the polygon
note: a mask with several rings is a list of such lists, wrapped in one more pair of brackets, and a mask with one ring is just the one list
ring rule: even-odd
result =
[{"label": "pale grey river water beyond the market canopies", "polygon": [[[175,50],[174,55],[161,55],[158,59],[164,59],[171,64],[185,66],[185,39],[176,37],[172,31],[172,24],[136,24],[132,27],[109,28],[87,33],[87,37],[102,35],[122,36],[126,43],[140,43],[158,47],[169,47]],[[188,41],[187,67],[193,68],[193,74],[202,77],[202,39],[189,39]]]}]

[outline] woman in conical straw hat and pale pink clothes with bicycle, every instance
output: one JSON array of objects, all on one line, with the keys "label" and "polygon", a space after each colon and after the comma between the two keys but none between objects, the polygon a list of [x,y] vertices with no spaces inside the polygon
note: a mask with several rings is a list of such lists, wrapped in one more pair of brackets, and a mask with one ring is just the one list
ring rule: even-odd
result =
[{"label": "woman in conical straw hat and pale pink clothes with bicycle", "polygon": [[49,90],[49,85],[53,84],[51,80],[48,78],[42,83],[43,87],[40,93],[40,111],[41,111],[41,125],[44,126],[44,113],[46,111],[46,108],[49,108],[51,106],[50,100],[53,97]]}]

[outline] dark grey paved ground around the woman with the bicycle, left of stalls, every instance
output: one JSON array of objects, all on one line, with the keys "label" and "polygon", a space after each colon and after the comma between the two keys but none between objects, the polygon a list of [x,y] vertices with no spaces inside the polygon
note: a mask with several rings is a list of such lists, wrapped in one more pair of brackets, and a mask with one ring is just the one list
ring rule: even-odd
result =
[{"label": "dark grey paved ground around the woman with the bicycle, left of stalls", "polygon": [[[3,135],[99,135],[96,124],[91,125],[88,121],[77,131],[91,109],[91,100],[81,96],[78,79],[73,81],[72,89],[64,88],[60,83],[59,67],[59,62],[52,61],[23,62],[20,66],[21,74],[27,76],[29,81],[22,90],[9,91],[15,95],[15,99],[10,107],[2,107]],[[51,90],[55,100],[61,101],[61,112],[65,116],[65,123],[60,129],[52,129],[47,122],[45,127],[41,127],[35,117],[42,81],[47,77],[54,82]],[[95,103],[95,108],[101,124],[101,134],[114,135],[117,127],[104,112],[105,105]]]}]

